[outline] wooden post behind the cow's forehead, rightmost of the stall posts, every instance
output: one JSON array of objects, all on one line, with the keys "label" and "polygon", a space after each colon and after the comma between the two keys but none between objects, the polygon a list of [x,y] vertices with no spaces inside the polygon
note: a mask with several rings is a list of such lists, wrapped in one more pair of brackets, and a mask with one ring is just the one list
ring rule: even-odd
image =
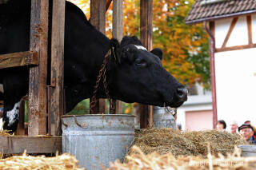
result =
[{"label": "wooden post behind the cow's forehead, rightmost of the stall posts", "polygon": [[[153,12],[153,0],[141,0],[141,42],[146,47],[146,49],[152,49],[152,12]],[[149,121],[152,125],[153,111],[152,107],[148,105],[140,105],[140,126],[141,128],[147,127],[147,122]],[[151,114],[151,115],[150,115]],[[148,120],[150,118],[150,120]]]}]

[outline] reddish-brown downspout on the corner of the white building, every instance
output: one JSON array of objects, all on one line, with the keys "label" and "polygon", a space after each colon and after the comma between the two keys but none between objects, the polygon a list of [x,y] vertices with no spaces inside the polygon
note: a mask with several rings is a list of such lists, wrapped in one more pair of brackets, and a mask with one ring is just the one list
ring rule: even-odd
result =
[{"label": "reddish-brown downspout on the corner of the white building", "polygon": [[[214,23],[214,22],[213,22]],[[203,22],[207,34],[210,36],[210,83],[211,83],[211,94],[212,94],[212,105],[213,105],[213,127],[216,128],[217,123],[217,100],[216,100],[216,82],[215,82],[215,38],[210,29],[207,27],[206,22]],[[210,23],[211,24],[211,23]]]}]

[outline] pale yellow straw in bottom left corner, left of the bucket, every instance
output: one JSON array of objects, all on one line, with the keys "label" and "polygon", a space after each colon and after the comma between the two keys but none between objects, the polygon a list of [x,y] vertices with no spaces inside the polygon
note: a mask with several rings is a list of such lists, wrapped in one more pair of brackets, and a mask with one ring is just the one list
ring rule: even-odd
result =
[{"label": "pale yellow straw in bottom left corner, left of the bucket", "polygon": [[84,168],[78,167],[78,160],[69,154],[62,154],[61,156],[45,157],[45,156],[12,156],[0,160],[0,169],[46,169],[46,170],[82,170]]}]

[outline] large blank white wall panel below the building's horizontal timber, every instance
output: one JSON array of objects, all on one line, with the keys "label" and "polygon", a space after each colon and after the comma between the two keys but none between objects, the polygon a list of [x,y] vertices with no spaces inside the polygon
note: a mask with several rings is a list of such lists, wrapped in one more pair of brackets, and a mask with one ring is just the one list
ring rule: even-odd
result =
[{"label": "large blank white wall panel below the building's horizontal timber", "polygon": [[256,123],[256,49],[215,53],[218,120]]}]

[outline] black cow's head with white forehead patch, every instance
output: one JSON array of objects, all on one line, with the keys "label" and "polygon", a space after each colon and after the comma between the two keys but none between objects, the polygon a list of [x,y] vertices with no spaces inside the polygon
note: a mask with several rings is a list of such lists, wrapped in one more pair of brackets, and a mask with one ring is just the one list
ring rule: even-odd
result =
[{"label": "black cow's head with white forehead patch", "polygon": [[187,99],[187,89],[162,67],[162,50],[148,51],[136,37],[124,37],[114,49],[107,68],[110,97],[128,103],[177,108]]}]

